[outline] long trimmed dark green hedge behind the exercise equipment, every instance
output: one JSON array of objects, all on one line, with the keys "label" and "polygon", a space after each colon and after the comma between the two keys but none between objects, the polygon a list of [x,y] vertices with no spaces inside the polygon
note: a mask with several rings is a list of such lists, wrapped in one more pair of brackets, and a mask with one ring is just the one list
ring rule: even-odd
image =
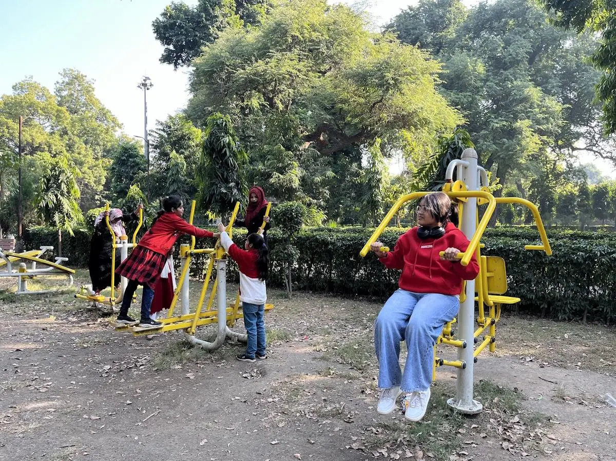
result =
[{"label": "long trimmed dark green hedge behind the exercise equipment", "polygon": [[[381,241],[393,247],[405,230],[387,228]],[[304,228],[293,240],[300,254],[293,271],[294,289],[386,299],[397,287],[399,272],[385,270],[373,255],[359,256],[372,231],[359,226]],[[245,230],[233,232],[233,240],[240,246],[245,236]],[[522,310],[561,320],[587,317],[591,321],[609,322],[616,316],[616,234],[548,230],[548,236],[554,252],[551,257],[524,250],[525,244],[540,243],[532,228],[491,228],[482,240],[484,254],[505,259],[508,294],[522,299]],[[284,258],[278,255],[277,247],[282,251],[285,238],[276,228],[268,232],[268,238],[272,252],[268,284],[284,287]],[[63,236],[63,254],[69,258],[68,265],[87,265],[89,240],[87,230],[76,230],[75,238]],[[187,236],[180,239],[180,243],[189,241]],[[197,247],[212,243],[212,239],[198,239]],[[55,230],[34,228],[26,233],[26,249],[56,244]],[[192,276],[200,278],[208,262],[208,257],[195,257]],[[237,265],[229,265],[228,276],[231,281],[238,280]]]}]

